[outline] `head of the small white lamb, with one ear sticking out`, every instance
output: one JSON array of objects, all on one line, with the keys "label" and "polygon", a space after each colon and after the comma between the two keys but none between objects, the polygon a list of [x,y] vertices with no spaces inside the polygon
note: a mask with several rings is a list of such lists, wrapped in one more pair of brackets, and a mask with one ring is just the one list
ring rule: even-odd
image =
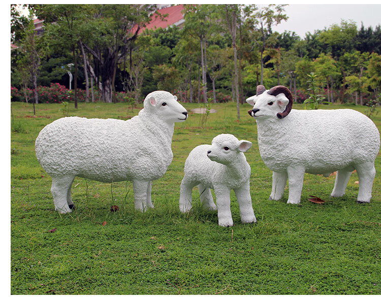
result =
[{"label": "head of the small white lamb, with one ear sticking out", "polygon": [[251,147],[251,142],[238,140],[232,134],[220,134],[212,140],[207,156],[211,161],[220,164],[233,163],[241,152],[246,152]]}]

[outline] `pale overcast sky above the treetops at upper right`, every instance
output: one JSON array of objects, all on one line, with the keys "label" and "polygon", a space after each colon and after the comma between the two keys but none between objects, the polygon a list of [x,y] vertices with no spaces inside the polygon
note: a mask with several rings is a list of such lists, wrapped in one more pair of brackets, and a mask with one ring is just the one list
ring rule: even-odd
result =
[{"label": "pale overcast sky above the treetops at upper right", "polygon": [[273,32],[295,32],[304,39],[305,34],[314,33],[316,29],[328,29],[332,24],[340,24],[341,20],[353,20],[357,29],[363,22],[365,28],[381,24],[381,4],[289,4],[285,7],[287,21],[273,26]]}]

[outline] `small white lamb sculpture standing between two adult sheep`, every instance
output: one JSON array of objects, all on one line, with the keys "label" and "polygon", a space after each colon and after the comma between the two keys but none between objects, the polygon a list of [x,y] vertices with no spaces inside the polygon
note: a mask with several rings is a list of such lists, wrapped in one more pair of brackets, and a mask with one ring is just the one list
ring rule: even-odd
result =
[{"label": "small white lamb sculpture standing between two adult sheep", "polygon": [[[250,165],[243,152],[251,142],[238,140],[231,134],[220,134],[211,145],[195,147],[185,161],[184,178],[180,186],[179,207],[182,213],[192,208],[192,189],[197,186],[204,207],[217,208],[218,225],[233,226],[230,191],[233,189],[240,209],[241,222],[257,222],[250,196]],[[210,189],[214,190],[217,206]]]}]

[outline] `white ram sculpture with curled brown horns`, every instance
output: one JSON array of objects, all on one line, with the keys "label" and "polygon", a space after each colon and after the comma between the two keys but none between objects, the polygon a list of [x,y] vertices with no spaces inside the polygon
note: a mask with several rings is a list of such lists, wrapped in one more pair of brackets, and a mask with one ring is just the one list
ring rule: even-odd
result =
[{"label": "white ram sculpture with curled brown horns", "polygon": [[354,170],[359,176],[359,203],[369,202],[379,151],[379,132],[364,114],[353,109],[295,110],[285,86],[257,87],[246,99],[258,129],[258,145],[265,165],[273,171],[270,199],[283,197],[300,203],[304,173],[329,176],[337,171],[331,197],[342,197]]}]

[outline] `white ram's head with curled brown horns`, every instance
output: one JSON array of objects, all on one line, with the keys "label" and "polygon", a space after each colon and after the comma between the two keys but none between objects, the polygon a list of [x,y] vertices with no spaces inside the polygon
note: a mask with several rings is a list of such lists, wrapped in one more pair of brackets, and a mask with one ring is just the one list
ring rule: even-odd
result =
[{"label": "white ram's head with curled brown horns", "polygon": [[279,119],[287,116],[293,106],[293,96],[290,89],[277,85],[267,90],[263,85],[257,86],[257,95],[246,99],[253,106],[249,115],[257,118],[277,116]]}]

